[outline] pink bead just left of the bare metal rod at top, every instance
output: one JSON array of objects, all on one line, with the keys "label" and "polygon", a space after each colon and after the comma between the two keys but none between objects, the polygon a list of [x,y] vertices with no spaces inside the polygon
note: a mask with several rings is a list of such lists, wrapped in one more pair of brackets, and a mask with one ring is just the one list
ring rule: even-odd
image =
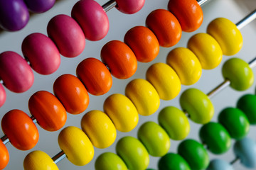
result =
[{"label": "pink bead just left of the bare metal rod at top", "polygon": [[104,9],[93,0],[78,1],[73,6],[71,16],[78,21],[87,40],[101,40],[110,28]]}]

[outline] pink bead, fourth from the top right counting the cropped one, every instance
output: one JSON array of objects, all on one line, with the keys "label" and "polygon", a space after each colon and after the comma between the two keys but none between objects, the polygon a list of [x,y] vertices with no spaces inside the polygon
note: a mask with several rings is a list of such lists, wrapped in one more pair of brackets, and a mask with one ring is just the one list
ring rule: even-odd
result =
[{"label": "pink bead, fourth from the top right counting the cropped one", "polygon": [[46,35],[32,33],[22,42],[24,57],[39,74],[52,74],[60,66],[60,52],[54,42]]}]

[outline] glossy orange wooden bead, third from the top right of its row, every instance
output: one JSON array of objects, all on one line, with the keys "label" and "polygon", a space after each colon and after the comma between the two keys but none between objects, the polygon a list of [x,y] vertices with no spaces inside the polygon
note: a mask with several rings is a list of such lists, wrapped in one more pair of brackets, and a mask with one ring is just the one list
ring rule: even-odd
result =
[{"label": "glossy orange wooden bead, third from the top right of its row", "polygon": [[159,41],[149,28],[136,26],[124,35],[124,42],[134,52],[139,62],[151,62],[159,54]]}]

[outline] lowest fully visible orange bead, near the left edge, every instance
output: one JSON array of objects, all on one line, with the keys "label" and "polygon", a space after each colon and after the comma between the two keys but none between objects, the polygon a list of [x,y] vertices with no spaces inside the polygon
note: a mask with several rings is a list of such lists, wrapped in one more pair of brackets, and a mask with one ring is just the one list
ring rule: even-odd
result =
[{"label": "lowest fully visible orange bead, near the left edge", "polygon": [[32,149],[38,142],[38,129],[33,120],[23,111],[7,112],[1,120],[1,128],[17,149]]}]

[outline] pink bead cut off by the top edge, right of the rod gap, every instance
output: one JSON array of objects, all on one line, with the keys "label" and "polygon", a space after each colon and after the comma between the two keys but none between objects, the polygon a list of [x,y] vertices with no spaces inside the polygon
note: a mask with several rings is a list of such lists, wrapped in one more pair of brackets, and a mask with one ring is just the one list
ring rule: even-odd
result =
[{"label": "pink bead cut off by the top edge, right of the rod gap", "polygon": [[137,13],[145,4],[145,0],[116,0],[116,8],[122,13]]}]

